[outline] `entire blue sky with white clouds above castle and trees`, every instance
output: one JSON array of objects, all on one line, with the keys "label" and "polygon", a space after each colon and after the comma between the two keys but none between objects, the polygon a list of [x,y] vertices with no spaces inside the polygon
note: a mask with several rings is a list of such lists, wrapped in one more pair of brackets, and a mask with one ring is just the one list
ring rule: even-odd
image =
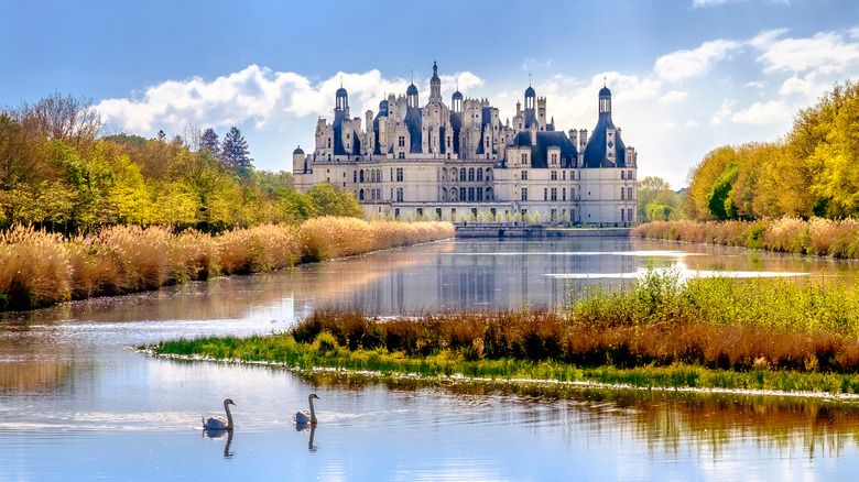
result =
[{"label": "entire blue sky with white clouds above castle and trees", "polygon": [[[433,61],[443,96],[512,117],[531,83],[563,130],[592,130],[604,79],[639,176],[685,185],[724,144],[774,141],[834,84],[859,79],[856,0],[0,0],[0,106],[90,97],[108,133],[230,125],[258,168],[313,147],[342,81],[354,117]],[[413,74],[412,74],[413,72]],[[309,147],[309,149],[308,149]]]}]

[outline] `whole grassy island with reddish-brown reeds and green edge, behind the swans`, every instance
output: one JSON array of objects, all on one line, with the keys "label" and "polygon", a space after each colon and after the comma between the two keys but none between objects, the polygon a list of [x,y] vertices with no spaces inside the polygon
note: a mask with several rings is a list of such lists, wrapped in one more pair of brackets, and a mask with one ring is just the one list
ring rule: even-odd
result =
[{"label": "whole grassy island with reddish-brown reeds and green edge, behind the swans", "polygon": [[320,310],[287,332],[165,341],[157,355],[426,377],[859,393],[859,292],[651,271],[558,311],[381,319]]}]

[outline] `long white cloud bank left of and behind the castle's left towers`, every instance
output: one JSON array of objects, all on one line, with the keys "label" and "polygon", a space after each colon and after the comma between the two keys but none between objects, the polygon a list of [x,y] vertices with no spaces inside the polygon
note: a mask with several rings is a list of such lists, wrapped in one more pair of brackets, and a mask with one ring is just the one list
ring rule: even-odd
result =
[{"label": "long white cloud bank left of and behind the castle's left towers", "polygon": [[[483,80],[470,72],[446,76],[444,91],[480,86]],[[145,89],[138,99],[106,99],[96,108],[106,122],[141,135],[182,132],[187,125],[215,129],[252,121],[255,128],[282,129],[286,120],[309,114],[329,116],[335,91],[349,92],[352,116],[378,109],[385,92],[403,94],[409,80],[385,79],[379,70],[338,73],[313,85],[295,73],[272,72],[250,65],[243,70],[206,81],[199,77],[167,80]],[[427,91],[423,90],[423,96]]]}]

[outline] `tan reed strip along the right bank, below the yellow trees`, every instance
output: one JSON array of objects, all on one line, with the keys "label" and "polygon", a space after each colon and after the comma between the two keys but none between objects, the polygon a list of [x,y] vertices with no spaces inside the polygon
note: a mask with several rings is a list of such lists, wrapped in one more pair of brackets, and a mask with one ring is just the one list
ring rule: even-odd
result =
[{"label": "tan reed strip along the right bank, below the yellow trees", "polygon": [[784,217],[755,221],[653,221],[638,226],[630,235],[859,259],[859,220],[855,218],[803,220]]}]

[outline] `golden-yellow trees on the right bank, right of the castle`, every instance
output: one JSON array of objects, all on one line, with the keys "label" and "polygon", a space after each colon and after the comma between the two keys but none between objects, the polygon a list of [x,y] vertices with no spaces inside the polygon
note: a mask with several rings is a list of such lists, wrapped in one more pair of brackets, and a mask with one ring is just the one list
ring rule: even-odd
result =
[{"label": "golden-yellow trees on the right bank, right of the castle", "polygon": [[859,84],[801,110],[784,139],[710,151],[688,175],[697,220],[859,217]]}]

